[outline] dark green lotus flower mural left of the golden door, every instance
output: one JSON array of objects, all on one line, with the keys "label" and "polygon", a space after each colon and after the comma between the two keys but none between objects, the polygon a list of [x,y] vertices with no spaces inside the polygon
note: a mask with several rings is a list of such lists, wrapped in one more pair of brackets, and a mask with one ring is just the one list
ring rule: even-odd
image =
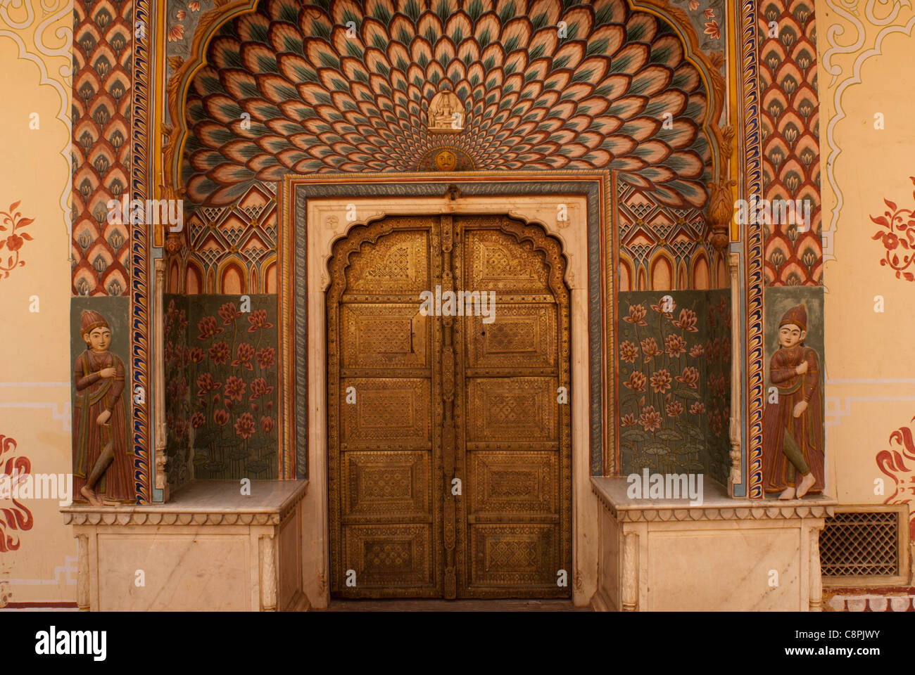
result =
[{"label": "dark green lotus flower mural left of the golden door", "polygon": [[277,477],[276,324],[275,295],[167,296],[169,484]]}]

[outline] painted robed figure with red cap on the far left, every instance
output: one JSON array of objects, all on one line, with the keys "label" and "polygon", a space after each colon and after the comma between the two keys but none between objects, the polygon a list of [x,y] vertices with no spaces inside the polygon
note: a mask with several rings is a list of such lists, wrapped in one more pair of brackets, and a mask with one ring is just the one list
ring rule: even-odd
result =
[{"label": "painted robed figure with red cap on the far left", "polygon": [[122,396],[124,361],[108,350],[111,327],[98,312],[83,310],[80,335],[86,350],[73,368],[73,488],[94,506],[134,501],[134,457],[127,446]]}]

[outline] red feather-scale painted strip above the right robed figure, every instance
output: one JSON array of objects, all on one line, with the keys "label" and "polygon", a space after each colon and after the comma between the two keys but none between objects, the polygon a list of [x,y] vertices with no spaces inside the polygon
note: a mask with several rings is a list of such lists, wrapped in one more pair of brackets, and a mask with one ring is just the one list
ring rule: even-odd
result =
[{"label": "red feather-scale painted strip above the right robed figure", "polygon": [[[762,196],[813,202],[810,230],[799,232],[795,224],[787,223],[766,226],[765,283],[821,284],[820,117],[813,0],[762,0],[758,20]],[[772,22],[776,37],[770,37]]]}]

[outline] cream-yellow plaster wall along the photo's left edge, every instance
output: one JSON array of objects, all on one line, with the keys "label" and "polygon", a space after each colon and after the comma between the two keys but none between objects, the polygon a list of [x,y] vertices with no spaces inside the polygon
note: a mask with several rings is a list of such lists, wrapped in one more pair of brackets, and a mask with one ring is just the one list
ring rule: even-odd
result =
[{"label": "cream-yellow plaster wall along the photo's left edge", "polygon": [[[16,439],[34,473],[70,473],[70,43],[71,3],[0,4],[0,211],[16,201],[25,266],[0,278],[0,434]],[[47,9],[45,8],[47,7]],[[38,129],[30,115],[38,112]],[[62,118],[62,119],[61,119]],[[5,224],[8,228],[8,224]],[[5,239],[9,230],[0,231]],[[0,250],[0,263],[9,252]],[[3,276],[0,273],[0,276]],[[30,311],[37,296],[38,312]],[[33,305],[34,307],[34,305]],[[6,455],[4,456],[5,460]],[[76,541],[50,499],[25,500],[31,530],[0,552],[8,602],[74,602]],[[0,499],[0,508],[12,506]]]}]

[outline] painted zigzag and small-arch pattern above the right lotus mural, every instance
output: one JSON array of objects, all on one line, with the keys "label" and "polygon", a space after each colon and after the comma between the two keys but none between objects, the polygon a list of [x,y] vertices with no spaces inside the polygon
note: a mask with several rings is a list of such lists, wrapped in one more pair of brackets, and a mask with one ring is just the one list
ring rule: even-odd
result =
[{"label": "painted zigzag and small-arch pattern above the right lotus mural", "polygon": [[[620,290],[713,287],[709,280],[719,253],[705,241],[708,228],[701,209],[664,206],[651,191],[623,180],[617,183],[617,209]],[[696,269],[704,270],[698,284]]]}]

